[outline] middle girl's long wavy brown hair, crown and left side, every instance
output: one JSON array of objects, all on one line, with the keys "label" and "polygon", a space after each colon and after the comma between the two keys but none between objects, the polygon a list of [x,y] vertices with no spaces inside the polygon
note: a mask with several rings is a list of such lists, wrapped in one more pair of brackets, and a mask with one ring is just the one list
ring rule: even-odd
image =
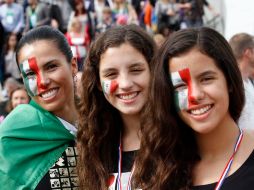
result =
[{"label": "middle girl's long wavy brown hair, crown and left side", "polygon": [[[82,75],[77,135],[81,189],[107,189],[107,180],[117,159],[122,119],[119,111],[105,99],[100,90],[99,63],[108,48],[128,43],[140,52],[149,64],[155,53],[153,39],[138,26],[111,28],[91,45]],[[119,63],[121,64],[121,63]]]}]

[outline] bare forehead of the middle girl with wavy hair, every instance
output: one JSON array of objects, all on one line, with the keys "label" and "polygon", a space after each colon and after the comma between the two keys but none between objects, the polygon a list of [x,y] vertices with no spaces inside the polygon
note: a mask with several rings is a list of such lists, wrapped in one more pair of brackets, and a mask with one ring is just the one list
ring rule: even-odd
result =
[{"label": "bare forehead of the middle girl with wavy hair", "polygon": [[108,48],[102,55],[100,60],[100,70],[107,68],[129,67],[132,64],[148,63],[138,50],[128,43],[124,43],[118,47]]}]

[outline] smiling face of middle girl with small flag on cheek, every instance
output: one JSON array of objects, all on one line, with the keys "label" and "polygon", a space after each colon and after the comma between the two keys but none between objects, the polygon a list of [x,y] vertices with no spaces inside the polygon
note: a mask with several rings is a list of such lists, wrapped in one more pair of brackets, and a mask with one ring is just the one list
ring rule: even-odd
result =
[{"label": "smiling face of middle girl with small flag on cheek", "polygon": [[109,103],[122,115],[137,115],[147,101],[150,70],[145,57],[130,44],[108,48],[99,75]]}]

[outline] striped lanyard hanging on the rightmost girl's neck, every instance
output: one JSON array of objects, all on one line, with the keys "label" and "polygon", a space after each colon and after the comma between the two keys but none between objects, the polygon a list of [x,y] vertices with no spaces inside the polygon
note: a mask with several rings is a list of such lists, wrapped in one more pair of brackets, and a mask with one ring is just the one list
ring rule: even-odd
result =
[{"label": "striped lanyard hanging on the rightmost girl's neck", "polygon": [[230,159],[229,159],[229,161],[228,161],[226,167],[224,168],[224,170],[223,170],[223,172],[222,172],[222,174],[221,174],[221,177],[220,177],[218,183],[216,184],[216,187],[215,187],[214,190],[219,190],[219,189],[221,188],[221,186],[222,186],[224,180],[226,179],[226,177],[227,177],[227,175],[228,175],[228,172],[229,172],[229,170],[230,170],[230,167],[231,167],[231,165],[232,165],[232,163],[233,163],[234,156],[235,156],[237,150],[238,150],[239,147],[240,147],[240,144],[241,144],[242,138],[243,138],[243,131],[242,131],[241,128],[239,128],[239,130],[240,130],[240,134],[239,134],[239,136],[238,136],[238,138],[237,138],[237,141],[236,141],[236,143],[235,143],[234,152],[233,152],[232,156],[230,157]]}]

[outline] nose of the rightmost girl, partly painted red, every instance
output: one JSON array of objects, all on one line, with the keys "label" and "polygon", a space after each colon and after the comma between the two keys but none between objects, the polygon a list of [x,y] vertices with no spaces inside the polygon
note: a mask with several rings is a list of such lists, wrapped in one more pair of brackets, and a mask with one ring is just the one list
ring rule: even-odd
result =
[{"label": "nose of the rightmost girl, partly painted red", "polygon": [[188,100],[190,105],[197,104],[204,98],[205,93],[201,85],[191,83],[188,88]]}]

